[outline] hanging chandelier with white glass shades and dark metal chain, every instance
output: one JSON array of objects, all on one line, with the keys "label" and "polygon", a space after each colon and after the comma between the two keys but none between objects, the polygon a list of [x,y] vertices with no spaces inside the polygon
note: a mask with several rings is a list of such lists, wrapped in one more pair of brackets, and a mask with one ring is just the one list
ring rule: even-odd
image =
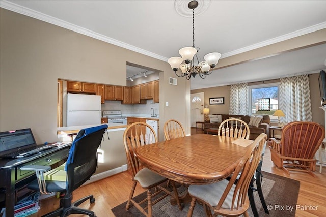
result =
[{"label": "hanging chandelier with white glass shades and dark metal chain", "polygon": [[[198,74],[199,77],[205,78],[214,70],[216,64],[218,64],[221,58],[221,53],[208,53],[204,56],[204,61],[199,61],[197,56],[198,50],[195,48],[195,8],[197,8],[198,2],[191,1],[188,3],[188,8],[193,10],[193,46],[184,47],[179,50],[181,57],[171,57],[168,59],[168,63],[178,77],[186,77],[187,80]],[[181,70],[181,73],[179,71]]]}]

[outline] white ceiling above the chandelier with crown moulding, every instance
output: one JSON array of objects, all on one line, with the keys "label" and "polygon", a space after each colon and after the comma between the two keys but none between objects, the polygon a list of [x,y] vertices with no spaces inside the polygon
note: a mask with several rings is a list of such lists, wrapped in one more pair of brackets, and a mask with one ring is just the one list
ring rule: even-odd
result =
[{"label": "white ceiling above the chandelier with crown moulding", "polygon": [[[213,51],[225,58],[326,28],[326,1],[208,2],[207,10],[195,16],[195,47],[200,48],[201,58]],[[192,18],[179,15],[172,0],[0,3],[3,8],[165,61],[179,56],[180,48],[192,46]],[[191,89],[315,73],[326,69],[325,59],[326,44],[322,44],[219,69],[206,79],[191,78]]]}]

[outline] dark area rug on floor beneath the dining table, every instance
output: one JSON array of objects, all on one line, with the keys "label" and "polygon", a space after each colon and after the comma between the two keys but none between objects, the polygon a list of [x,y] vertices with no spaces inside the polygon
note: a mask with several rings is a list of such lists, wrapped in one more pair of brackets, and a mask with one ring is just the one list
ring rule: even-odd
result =
[{"label": "dark area rug on floor beneath the dining table", "polygon": [[[300,188],[300,181],[296,181],[290,178],[274,175],[267,172],[262,172],[262,189],[264,198],[269,209],[269,215],[264,212],[262,208],[258,192],[254,192],[254,198],[259,216],[295,216],[295,205]],[[185,191],[185,187],[182,185],[178,187],[178,192]],[[182,194],[182,193],[181,193]],[[146,198],[146,192],[134,197],[135,201],[141,201]],[[124,202],[112,209],[115,216],[120,217],[138,217],[144,216],[134,206],[129,208],[129,211],[125,210],[126,203]],[[181,217],[187,216],[190,204],[184,204],[182,211],[177,206],[170,204],[170,197],[166,197],[153,206],[153,216],[159,217]],[[248,209],[249,216],[254,216],[251,208]],[[194,217],[205,216],[203,207],[196,203]]]}]

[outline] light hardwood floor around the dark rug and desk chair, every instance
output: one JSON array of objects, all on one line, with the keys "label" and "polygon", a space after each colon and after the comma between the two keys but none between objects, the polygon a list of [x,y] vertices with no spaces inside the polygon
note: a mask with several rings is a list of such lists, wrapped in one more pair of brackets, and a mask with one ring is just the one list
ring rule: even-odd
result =
[{"label": "light hardwood floor around the dark rug and desk chair", "polygon": [[[192,128],[192,134],[196,134],[196,128]],[[198,131],[198,134],[203,131]],[[300,191],[298,195],[297,205],[300,205],[299,209],[296,209],[296,216],[324,216],[326,213],[326,166],[323,168],[322,173],[319,173],[319,166],[316,167],[316,176],[313,178],[304,172],[291,171],[290,175],[286,175],[282,170],[273,165],[270,160],[270,151],[266,148],[262,170],[289,177],[300,181]],[[89,200],[80,207],[93,210],[97,217],[114,216],[111,212],[111,208],[125,202],[128,199],[131,189],[131,177],[128,172],[116,174],[114,176],[99,180],[97,182],[85,185],[74,191],[74,199],[79,199],[84,196],[93,194],[96,198],[94,204],[90,204]],[[144,192],[142,188],[137,188],[135,195]],[[282,195],[280,195],[282,197]],[[268,205],[268,204],[267,204]],[[271,204],[274,206],[274,204]],[[38,211],[37,216],[55,210],[59,206],[59,199],[48,198],[40,202],[41,209]],[[295,207],[294,207],[295,209]],[[313,210],[314,209],[314,210]],[[317,209],[317,210],[316,210]],[[81,215],[70,215],[81,216]],[[120,216],[119,216],[120,217]]]}]

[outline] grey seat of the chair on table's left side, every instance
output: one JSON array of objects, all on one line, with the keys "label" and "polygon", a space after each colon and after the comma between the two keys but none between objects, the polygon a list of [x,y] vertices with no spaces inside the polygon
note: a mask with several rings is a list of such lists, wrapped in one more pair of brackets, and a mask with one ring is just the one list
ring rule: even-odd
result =
[{"label": "grey seat of the chair on table's left side", "polygon": [[147,189],[153,185],[166,181],[167,178],[154,173],[148,168],[143,168],[134,176],[134,180],[138,181],[141,187]]}]

